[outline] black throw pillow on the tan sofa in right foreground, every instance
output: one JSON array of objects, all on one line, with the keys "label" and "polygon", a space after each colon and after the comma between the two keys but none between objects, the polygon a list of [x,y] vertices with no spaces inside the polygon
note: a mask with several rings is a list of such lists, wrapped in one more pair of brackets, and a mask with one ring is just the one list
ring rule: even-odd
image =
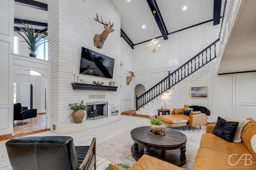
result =
[{"label": "black throw pillow on the tan sofa in right foreground", "polygon": [[226,121],[225,119],[218,117],[212,133],[228,142],[232,142],[237,126],[238,122]]}]

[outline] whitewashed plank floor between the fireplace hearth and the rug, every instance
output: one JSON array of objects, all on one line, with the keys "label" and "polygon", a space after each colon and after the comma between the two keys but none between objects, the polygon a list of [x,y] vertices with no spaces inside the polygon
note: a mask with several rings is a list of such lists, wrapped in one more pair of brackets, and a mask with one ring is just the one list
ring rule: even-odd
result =
[{"label": "whitewashed plank floor between the fireplace hearth and the rug", "polygon": [[[96,145],[97,145],[97,143],[103,142],[116,135],[119,135],[124,131],[126,131],[128,128],[130,129],[133,126],[138,126],[140,124],[145,124],[145,123],[148,123],[149,125],[148,118],[133,117],[133,116],[127,116],[127,115],[120,115],[120,116],[121,116],[120,121],[94,128],[93,131],[88,130],[88,131],[82,131],[78,133],[71,133],[71,134],[65,134],[65,135],[73,137],[75,146],[79,146],[79,145],[88,146],[90,145],[93,137],[96,137]],[[54,135],[58,135],[58,134],[52,131],[45,131],[42,133],[36,133],[28,136],[54,136]],[[6,152],[6,147],[5,147],[5,143],[8,140],[0,141],[0,170],[12,170],[9,159],[8,159],[8,155]],[[97,154],[97,150],[96,150],[96,154]],[[96,170],[104,170],[108,166],[108,164],[111,163],[110,161],[98,155],[96,159],[97,159]]]}]

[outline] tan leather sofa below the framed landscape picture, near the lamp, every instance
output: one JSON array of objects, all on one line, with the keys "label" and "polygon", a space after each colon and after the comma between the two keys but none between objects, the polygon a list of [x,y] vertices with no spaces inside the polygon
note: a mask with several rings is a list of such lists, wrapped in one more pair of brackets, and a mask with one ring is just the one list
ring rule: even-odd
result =
[{"label": "tan leather sofa below the framed landscape picture, near the lamp", "polygon": [[176,109],[171,111],[170,115],[161,115],[158,116],[157,119],[161,119],[163,123],[169,127],[184,127],[186,125],[189,126],[200,126],[206,125],[208,121],[208,116],[205,113],[200,111],[190,111],[190,115],[184,115],[188,105],[184,105],[183,108]]}]

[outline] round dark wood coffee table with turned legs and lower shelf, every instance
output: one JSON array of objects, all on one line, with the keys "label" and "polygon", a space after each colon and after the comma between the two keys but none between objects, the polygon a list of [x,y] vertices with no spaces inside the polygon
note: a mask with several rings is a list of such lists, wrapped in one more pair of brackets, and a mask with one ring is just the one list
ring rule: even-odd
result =
[{"label": "round dark wood coffee table with turned legs and lower shelf", "polygon": [[148,134],[150,126],[137,127],[131,131],[134,141],[132,145],[132,157],[139,160],[143,154],[154,156],[177,166],[186,163],[186,141],[183,133],[163,127],[164,136],[153,136]]}]

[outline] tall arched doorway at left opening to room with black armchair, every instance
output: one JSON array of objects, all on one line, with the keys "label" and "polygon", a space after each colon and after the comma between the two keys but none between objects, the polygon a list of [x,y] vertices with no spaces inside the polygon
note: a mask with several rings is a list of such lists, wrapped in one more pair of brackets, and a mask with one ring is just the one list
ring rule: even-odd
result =
[{"label": "tall arched doorway at left opening to room with black armchair", "polygon": [[24,70],[14,76],[15,103],[22,107],[37,109],[37,117],[14,121],[14,135],[46,129],[46,79],[39,72]]}]

